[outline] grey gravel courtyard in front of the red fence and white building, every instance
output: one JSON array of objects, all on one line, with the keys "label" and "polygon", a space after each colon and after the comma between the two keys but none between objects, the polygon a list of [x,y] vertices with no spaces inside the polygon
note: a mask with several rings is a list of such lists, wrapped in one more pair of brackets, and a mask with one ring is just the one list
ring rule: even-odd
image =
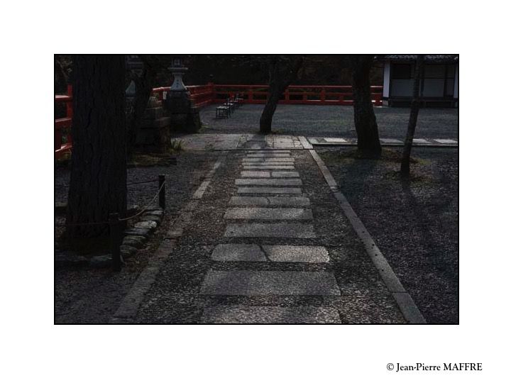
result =
[{"label": "grey gravel courtyard in front of the red fence and white building", "polygon": [[[216,105],[200,111],[202,133],[256,133],[263,105],[243,105],[230,118],[215,119]],[[375,107],[380,138],[406,137],[409,108]],[[352,106],[279,105],[273,131],[307,137],[356,138]],[[458,109],[421,109],[415,138],[458,138]]]}]

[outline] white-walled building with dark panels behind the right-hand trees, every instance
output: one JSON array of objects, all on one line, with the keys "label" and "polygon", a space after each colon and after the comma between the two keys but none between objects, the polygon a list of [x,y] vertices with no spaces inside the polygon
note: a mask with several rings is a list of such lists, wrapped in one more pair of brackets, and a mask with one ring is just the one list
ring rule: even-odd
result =
[{"label": "white-walled building with dark panels behind the right-hand trees", "polygon": [[[407,106],[412,100],[417,55],[383,55],[383,105]],[[419,94],[425,106],[458,106],[458,55],[426,55]]]}]

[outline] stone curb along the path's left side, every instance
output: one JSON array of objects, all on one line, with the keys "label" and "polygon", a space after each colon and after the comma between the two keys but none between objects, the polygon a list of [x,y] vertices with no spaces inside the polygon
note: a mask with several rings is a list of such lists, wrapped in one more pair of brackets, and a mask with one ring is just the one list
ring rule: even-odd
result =
[{"label": "stone curb along the path's left side", "polygon": [[202,199],[202,196],[209,186],[216,169],[218,169],[222,162],[224,162],[226,156],[227,152],[225,150],[222,151],[218,160],[216,160],[213,165],[213,168],[207,173],[202,184],[200,184],[194,192],[192,201],[189,201],[188,204],[181,209],[179,218],[177,218],[174,225],[172,225],[167,233],[165,233],[165,238],[158,246],[158,249],[156,249],[153,257],[150,258],[148,265],[145,266],[144,270],[142,270],[140,274],[138,274],[136,281],[128,291],[128,294],[124,296],[119,308],[111,317],[109,323],[127,324],[134,322],[136,314],[138,313],[138,308],[140,307],[145,294],[155,282],[156,276],[158,275],[158,272],[160,272],[160,268],[175,248],[177,240],[182,236],[183,230],[188,223],[192,221],[193,212],[199,205],[199,199]]}]

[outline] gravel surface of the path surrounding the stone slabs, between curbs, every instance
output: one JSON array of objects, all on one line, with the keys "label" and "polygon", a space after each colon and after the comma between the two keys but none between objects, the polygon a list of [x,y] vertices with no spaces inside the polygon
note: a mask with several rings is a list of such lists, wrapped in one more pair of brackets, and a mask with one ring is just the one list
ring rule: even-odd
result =
[{"label": "gravel surface of the path surrounding the stone slabs, between curbs", "polygon": [[[295,167],[311,199],[314,231],[318,238],[224,238],[223,216],[236,192],[234,179],[241,172],[243,152],[229,152],[194,212],[193,225],[185,228],[177,247],[145,296],[139,323],[197,323],[206,306],[329,306],[339,311],[343,323],[401,323],[403,318],[385,289],[373,263],[364,252],[339,204],[322,179],[308,151],[293,151]],[[237,223],[244,222],[236,220]],[[331,262],[326,265],[292,262],[214,262],[210,255],[218,243],[325,245]],[[201,296],[208,270],[300,270],[334,272],[341,296]]]}]

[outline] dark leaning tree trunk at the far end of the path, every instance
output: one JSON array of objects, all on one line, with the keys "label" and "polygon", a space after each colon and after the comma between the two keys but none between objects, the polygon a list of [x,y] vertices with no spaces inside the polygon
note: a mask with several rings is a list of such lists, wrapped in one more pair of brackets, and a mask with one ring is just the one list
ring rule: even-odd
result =
[{"label": "dark leaning tree trunk at the far end of the path", "polygon": [[277,109],[280,96],[290,86],[291,82],[297,79],[303,61],[304,57],[302,56],[291,57],[287,60],[278,55],[270,56],[268,99],[259,119],[259,133],[271,133],[273,114]]}]

